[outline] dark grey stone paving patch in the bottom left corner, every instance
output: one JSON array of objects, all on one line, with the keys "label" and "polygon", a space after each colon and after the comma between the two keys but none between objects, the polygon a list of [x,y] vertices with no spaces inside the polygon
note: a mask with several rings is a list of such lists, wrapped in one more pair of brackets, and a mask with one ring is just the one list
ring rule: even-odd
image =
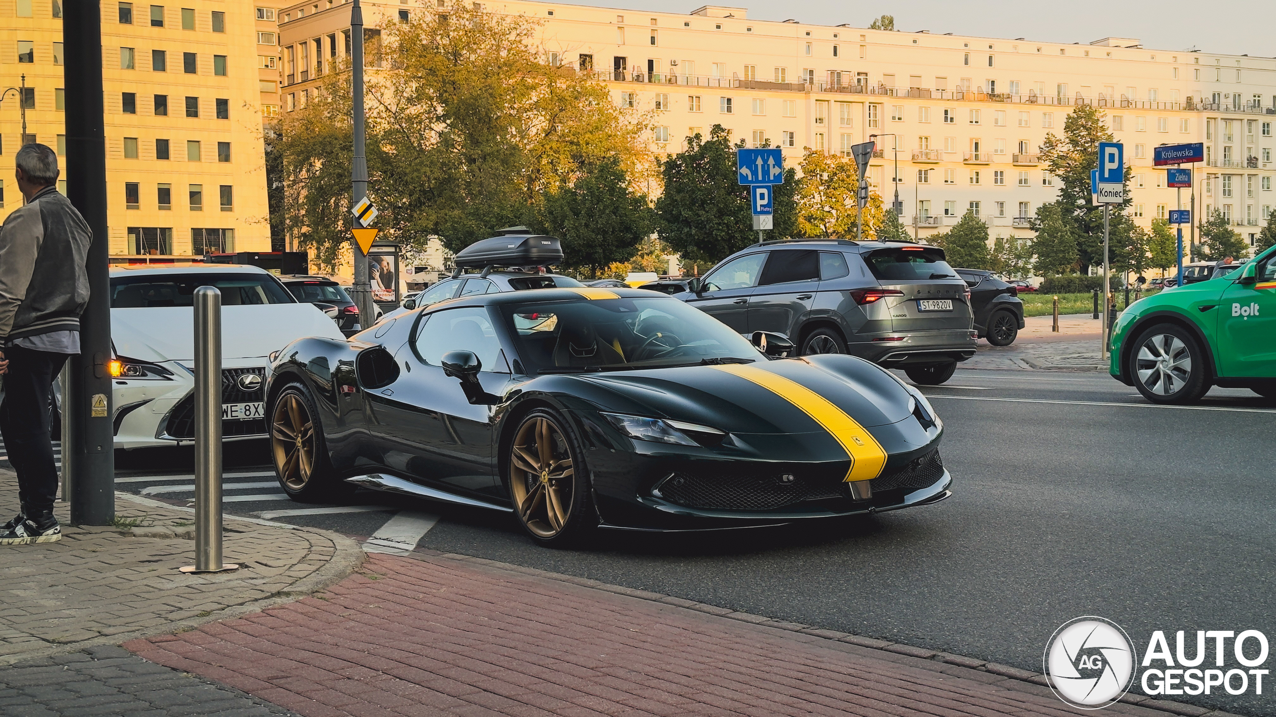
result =
[{"label": "dark grey stone paving patch in the bottom left corner", "polygon": [[119,647],[92,647],[0,669],[0,714],[269,717],[296,713],[237,689],[147,662]]}]

